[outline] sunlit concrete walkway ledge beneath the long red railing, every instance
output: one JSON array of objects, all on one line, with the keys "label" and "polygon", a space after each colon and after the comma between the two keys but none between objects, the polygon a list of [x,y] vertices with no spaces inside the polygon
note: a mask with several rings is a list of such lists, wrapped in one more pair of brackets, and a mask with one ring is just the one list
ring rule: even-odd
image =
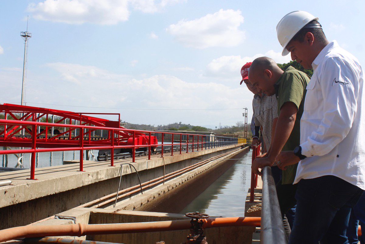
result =
[{"label": "sunlit concrete walkway ledge beneath the long red railing", "polygon": [[[164,156],[164,161],[165,165],[173,164],[238,146],[241,145],[223,146],[220,148],[183,153],[181,155]],[[151,160],[147,160],[147,157],[141,157],[133,165],[138,171],[143,171],[160,167],[164,165],[164,161],[160,155],[154,155],[151,157]],[[199,159],[196,159],[196,162],[199,162]],[[120,165],[121,163],[132,162],[131,159],[114,161],[115,165]],[[0,194],[3,193],[0,198],[0,208],[118,177],[120,167],[110,167],[109,165],[110,161],[97,162],[84,160],[85,172],[78,171],[78,164],[38,168],[35,170],[35,178],[38,178],[38,180],[27,180],[30,175],[29,169],[15,172],[1,172],[0,180],[9,179],[12,180],[12,184],[0,187]],[[127,174],[131,174],[130,167],[124,165],[122,175]]]}]

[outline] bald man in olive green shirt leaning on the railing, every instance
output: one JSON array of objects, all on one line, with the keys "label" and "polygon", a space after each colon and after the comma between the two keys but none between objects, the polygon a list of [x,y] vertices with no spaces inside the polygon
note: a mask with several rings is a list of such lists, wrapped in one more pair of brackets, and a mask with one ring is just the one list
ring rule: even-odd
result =
[{"label": "bald man in olive green shirt leaning on the railing", "polygon": [[[268,57],[260,57],[252,62],[249,70],[250,82],[258,91],[277,96],[278,118],[273,122],[272,144],[268,152],[259,156],[252,164],[255,174],[258,168],[271,166],[281,150],[293,150],[300,141],[300,118],[303,114],[306,87],[310,77],[293,67],[281,70],[276,62]],[[280,162],[277,162],[280,164]],[[282,181],[277,184],[280,210],[284,218],[296,204],[296,185],[293,185],[297,164],[287,167],[282,173]],[[284,219],[287,236],[290,228]]]}]

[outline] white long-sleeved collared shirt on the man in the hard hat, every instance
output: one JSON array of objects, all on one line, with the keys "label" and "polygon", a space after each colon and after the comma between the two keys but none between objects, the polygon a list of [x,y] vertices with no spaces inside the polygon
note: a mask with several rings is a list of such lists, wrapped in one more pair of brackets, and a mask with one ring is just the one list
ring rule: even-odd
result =
[{"label": "white long-sleeved collared shirt on the man in the hard hat", "polygon": [[[365,97],[358,60],[329,43],[312,63],[300,120],[301,153],[294,184],[334,175],[365,190]],[[362,125],[361,125],[362,121]]]}]

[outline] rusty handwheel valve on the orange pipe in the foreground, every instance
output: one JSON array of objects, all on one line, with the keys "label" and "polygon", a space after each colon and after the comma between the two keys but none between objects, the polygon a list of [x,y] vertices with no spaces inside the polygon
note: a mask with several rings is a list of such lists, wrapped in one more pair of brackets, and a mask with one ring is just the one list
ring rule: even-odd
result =
[{"label": "rusty handwheel valve on the orange pipe in the foreground", "polygon": [[192,218],[190,234],[187,236],[186,244],[208,244],[207,237],[203,235],[203,218],[209,218],[208,214],[199,212],[186,213],[186,217]]}]

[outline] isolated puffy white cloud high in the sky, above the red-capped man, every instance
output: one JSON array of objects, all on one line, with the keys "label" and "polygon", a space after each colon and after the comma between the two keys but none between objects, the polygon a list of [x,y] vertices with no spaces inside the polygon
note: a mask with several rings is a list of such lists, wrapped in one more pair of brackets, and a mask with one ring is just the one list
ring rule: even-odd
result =
[{"label": "isolated puffy white cloud high in the sky, above the red-capped man", "polygon": [[241,11],[220,9],[200,19],[180,20],[177,24],[171,24],[166,31],[187,47],[231,47],[245,39],[244,31],[239,30],[242,23]]}]

